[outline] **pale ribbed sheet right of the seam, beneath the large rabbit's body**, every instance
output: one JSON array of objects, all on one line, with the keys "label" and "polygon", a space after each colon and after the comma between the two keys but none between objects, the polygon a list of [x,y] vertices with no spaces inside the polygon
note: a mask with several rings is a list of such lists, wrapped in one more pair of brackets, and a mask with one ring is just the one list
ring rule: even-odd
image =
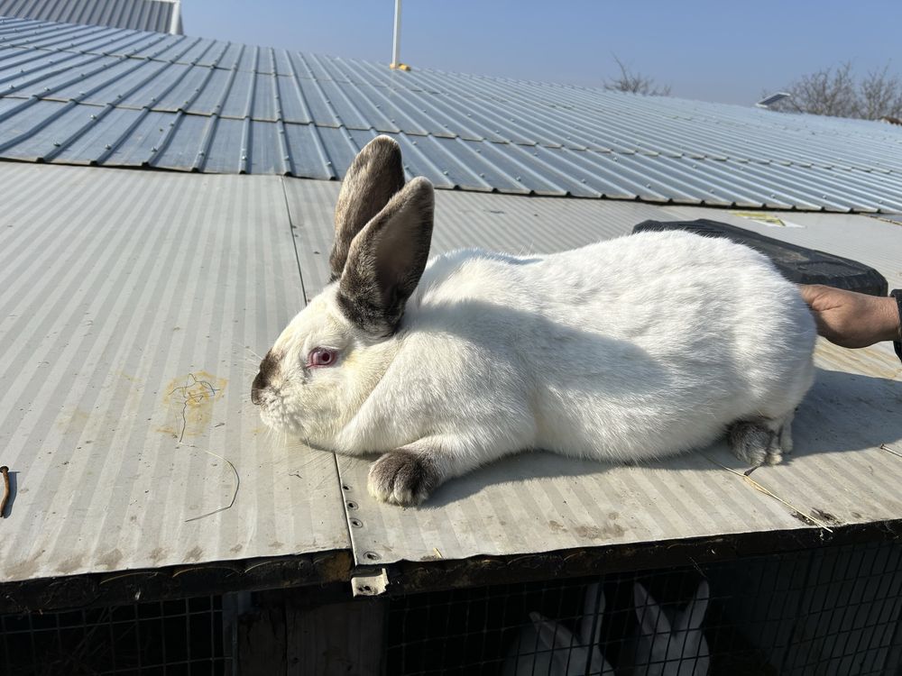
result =
[{"label": "pale ribbed sheet right of the seam, beneath the large rabbit's body", "polygon": [[[881,269],[891,284],[900,278],[902,228],[866,216],[777,213],[805,227],[769,228],[704,208],[620,204],[620,213],[606,213],[614,204],[440,194],[435,236],[451,246],[502,241],[505,251],[556,251],[627,233],[646,218],[711,218],[858,258]],[[443,225],[453,232],[443,233]],[[888,343],[847,351],[821,342],[816,362],[815,387],[794,423],[796,452],[753,478],[828,527],[898,519],[902,461],[893,451],[902,452],[902,367],[896,355]],[[639,467],[527,453],[450,481],[422,507],[401,509],[369,497],[369,461],[338,458],[345,498],[357,506],[359,526],[351,537],[360,563],[368,562],[362,553],[379,562],[464,559],[805,526],[785,503],[717,463],[746,469],[723,442],[704,455]]]}]

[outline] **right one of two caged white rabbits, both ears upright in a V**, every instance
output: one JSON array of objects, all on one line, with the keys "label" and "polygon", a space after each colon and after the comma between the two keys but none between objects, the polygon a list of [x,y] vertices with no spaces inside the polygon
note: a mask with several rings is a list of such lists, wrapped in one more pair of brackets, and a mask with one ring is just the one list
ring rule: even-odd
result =
[{"label": "right one of two caged white rabbits, both ears upright in a V", "polygon": [[[682,610],[662,609],[639,582],[633,587],[640,635],[622,653],[623,673],[633,676],[705,676],[711,663],[702,632],[708,608],[708,582],[702,580],[695,596]],[[669,615],[668,615],[669,612]],[[630,670],[630,665],[635,665]]]}]

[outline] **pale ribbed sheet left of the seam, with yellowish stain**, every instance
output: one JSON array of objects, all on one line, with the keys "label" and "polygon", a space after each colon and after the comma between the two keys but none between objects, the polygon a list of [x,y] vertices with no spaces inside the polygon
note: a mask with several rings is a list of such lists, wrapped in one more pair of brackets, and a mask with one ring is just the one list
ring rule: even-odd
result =
[{"label": "pale ribbed sheet left of the seam, with yellowish stain", "polygon": [[282,180],[0,163],[0,580],[349,547],[249,401],[303,303]]}]

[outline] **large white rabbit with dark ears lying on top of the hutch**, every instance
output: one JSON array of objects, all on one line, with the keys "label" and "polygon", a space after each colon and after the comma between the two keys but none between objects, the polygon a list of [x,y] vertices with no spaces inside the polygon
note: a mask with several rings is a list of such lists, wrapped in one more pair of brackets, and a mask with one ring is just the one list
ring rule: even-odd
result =
[{"label": "large white rabbit with dark ears lying on top of the hutch", "polygon": [[266,425],[310,446],[381,452],[375,498],[414,505],[525,449],[641,461],[711,443],[758,464],[791,447],[815,323],[761,254],[640,233],[529,258],[430,260],[432,185],[400,149],[348,169],[333,281],[260,365]]}]

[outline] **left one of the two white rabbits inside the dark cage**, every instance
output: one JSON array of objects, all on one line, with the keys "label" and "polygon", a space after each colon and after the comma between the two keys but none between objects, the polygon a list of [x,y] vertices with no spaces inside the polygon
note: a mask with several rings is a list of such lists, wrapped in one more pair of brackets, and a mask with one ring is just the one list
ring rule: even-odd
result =
[{"label": "left one of the two white rabbits inside the dark cage", "polygon": [[[504,661],[504,676],[601,676],[614,670],[598,645],[602,635],[604,593],[597,583],[585,590],[579,635],[538,613],[529,613],[531,626],[520,631]],[[588,669],[589,671],[586,671]]]}]

